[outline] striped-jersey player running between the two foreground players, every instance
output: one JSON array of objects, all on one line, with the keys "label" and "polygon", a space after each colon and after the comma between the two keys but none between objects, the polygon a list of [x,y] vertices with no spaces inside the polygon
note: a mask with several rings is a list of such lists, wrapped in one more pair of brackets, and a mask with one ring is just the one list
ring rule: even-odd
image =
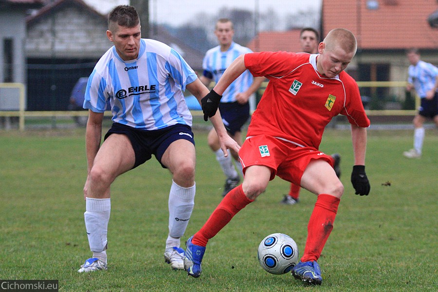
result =
[{"label": "striped-jersey player running between the two foreground players", "polygon": [[[205,86],[208,86],[212,80],[217,83],[225,69],[239,55],[252,52],[250,49],[233,41],[233,22],[228,18],[220,18],[216,22],[215,35],[218,38],[219,46],[208,50],[202,61],[203,72],[200,79]],[[245,71],[223,92],[223,97],[219,104],[222,121],[228,133],[238,145],[242,145],[241,128],[250,116],[248,99],[259,88],[264,79],[264,77],[253,78],[249,71]],[[231,156],[234,157],[237,170],[241,176],[243,175],[242,165],[238,161],[238,154],[236,152],[230,151],[232,155],[223,155],[215,129],[208,133],[207,140],[226,176],[222,192],[222,196],[225,196],[240,181]]]}]

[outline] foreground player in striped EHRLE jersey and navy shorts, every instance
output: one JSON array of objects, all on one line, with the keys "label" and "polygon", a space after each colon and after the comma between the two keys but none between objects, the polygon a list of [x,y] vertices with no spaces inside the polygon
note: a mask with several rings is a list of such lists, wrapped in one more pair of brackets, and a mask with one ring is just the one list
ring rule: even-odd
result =
[{"label": "foreground player in striped EHRLE jersey and navy shorts", "polygon": [[[194,206],[195,146],[192,117],[182,91],[188,89],[201,100],[208,89],[181,55],[161,42],[141,38],[140,19],[134,7],[120,5],[110,12],[107,37],[114,46],[94,67],[84,101],[84,108],[89,109],[84,217],[93,256],[78,272],[107,269],[110,185],[152,155],[172,174],[164,258],[172,268],[183,269],[180,237]],[[107,99],[113,125],[100,146]],[[211,122],[224,155],[228,147],[238,151],[239,146],[226,133],[220,117]],[[146,196],[147,183],[151,182],[145,174]]]}]

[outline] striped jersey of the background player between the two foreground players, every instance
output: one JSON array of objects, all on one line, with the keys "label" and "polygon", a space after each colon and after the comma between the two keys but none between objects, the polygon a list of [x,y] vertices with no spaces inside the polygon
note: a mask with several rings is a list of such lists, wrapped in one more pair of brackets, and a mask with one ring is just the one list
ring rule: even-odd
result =
[{"label": "striped jersey of the background player between the two foreground players", "polygon": [[[213,79],[218,83],[225,69],[239,56],[252,51],[235,42],[231,43],[230,48],[226,52],[220,51],[220,46],[214,47],[207,51],[202,60],[203,75]],[[236,94],[248,90],[253,84],[253,75],[245,70],[228,88],[223,92],[220,102],[228,103],[236,101]]]}]

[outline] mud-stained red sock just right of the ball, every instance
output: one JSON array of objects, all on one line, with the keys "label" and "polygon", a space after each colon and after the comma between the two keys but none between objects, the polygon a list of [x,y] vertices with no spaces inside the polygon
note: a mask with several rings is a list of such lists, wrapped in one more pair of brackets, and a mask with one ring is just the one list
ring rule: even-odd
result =
[{"label": "mud-stained red sock just right of the ball", "polygon": [[301,261],[316,261],[333,229],[333,222],[338,211],[339,199],[321,194],[316,199],[315,207],[307,226],[307,242]]}]

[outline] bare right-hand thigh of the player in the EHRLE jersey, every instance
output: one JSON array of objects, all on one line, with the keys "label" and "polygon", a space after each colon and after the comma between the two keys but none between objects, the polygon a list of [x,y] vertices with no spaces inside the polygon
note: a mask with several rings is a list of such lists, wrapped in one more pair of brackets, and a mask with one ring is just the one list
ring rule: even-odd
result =
[{"label": "bare right-hand thigh of the player in the EHRLE jersey", "polygon": [[193,174],[190,175],[194,175],[196,164],[195,146],[185,139],[175,140],[164,151],[161,163],[165,165],[172,174],[178,172],[193,172]]}]

